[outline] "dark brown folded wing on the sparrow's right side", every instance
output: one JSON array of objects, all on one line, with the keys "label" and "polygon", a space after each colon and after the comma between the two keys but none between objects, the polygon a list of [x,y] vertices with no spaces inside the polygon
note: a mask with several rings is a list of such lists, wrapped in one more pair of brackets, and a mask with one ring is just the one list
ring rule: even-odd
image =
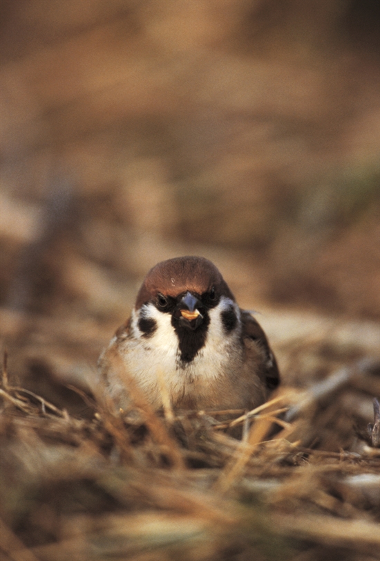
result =
[{"label": "dark brown folded wing on the sparrow's right side", "polygon": [[254,341],[263,352],[264,362],[263,369],[261,369],[260,374],[263,377],[263,383],[265,383],[267,389],[272,390],[280,383],[280,373],[278,371],[274,353],[269,347],[267,337],[263,329],[260,327],[260,324],[258,324],[249,312],[242,310],[241,320],[243,324],[243,340],[245,342],[245,346],[249,347],[249,341]]}]

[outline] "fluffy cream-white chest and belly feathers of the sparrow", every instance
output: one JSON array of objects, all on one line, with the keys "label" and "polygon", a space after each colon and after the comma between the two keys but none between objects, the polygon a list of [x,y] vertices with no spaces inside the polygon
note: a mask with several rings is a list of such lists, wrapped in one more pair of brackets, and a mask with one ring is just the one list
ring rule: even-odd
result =
[{"label": "fluffy cream-white chest and belly feathers of the sparrow", "polygon": [[[131,333],[119,347],[129,374],[153,403],[160,401],[160,383],[164,383],[172,403],[191,402],[193,394],[202,401],[210,398],[215,387],[243,361],[240,324],[225,333],[220,311],[209,311],[209,325],[202,346],[192,360],[183,360],[184,343],[171,324],[171,315],[149,310],[155,329],[146,335],[139,329],[140,317],[133,314]],[[189,337],[196,333],[189,333]],[[189,342],[191,345],[191,341]],[[185,353],[186,354],[186,353]]]}]

